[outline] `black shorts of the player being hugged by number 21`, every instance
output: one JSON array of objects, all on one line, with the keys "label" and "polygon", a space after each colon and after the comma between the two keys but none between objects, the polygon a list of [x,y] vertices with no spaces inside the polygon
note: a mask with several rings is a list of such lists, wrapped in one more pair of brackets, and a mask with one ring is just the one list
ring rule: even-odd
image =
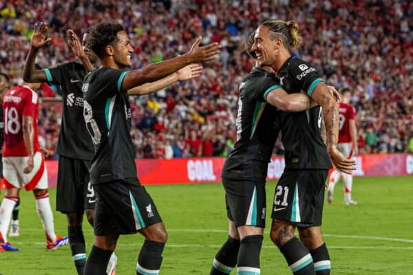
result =
[{"label": "black shorts of the player being hugged by number 21", "polygon": [[265,228],[266,192],[262,180],[222,178],[225,188],[226,215],[235,226]]}]

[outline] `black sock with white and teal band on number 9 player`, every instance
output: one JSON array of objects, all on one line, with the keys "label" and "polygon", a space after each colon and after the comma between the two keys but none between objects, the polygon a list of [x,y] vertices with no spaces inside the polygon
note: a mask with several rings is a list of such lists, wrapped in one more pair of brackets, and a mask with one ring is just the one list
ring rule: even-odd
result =
[{"label": "black sock with white and teal band on number 9 player", "polygon": [[78,275],[83,275],[86,263],[85,237],[81,226],[67,226],[67,236],[69,236],[70,250],[72,250],[72,259]]}]

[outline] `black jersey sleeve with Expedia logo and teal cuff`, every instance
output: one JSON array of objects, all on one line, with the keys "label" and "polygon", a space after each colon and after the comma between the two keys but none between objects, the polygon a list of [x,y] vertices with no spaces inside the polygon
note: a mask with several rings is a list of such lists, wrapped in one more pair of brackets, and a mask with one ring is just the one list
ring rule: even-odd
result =
[{"label": "black jersey sleeve with Expedia logo and teal cuff", "polygon": [[324,82],[322,78],[319,77],[317,69],[311,66],[305,61],[301,61],[295,58],[293,63],[290,65],[290,74],[293,76],[295,82],[305,91],[308,96],[313,94],[313,91],[317,84]]}]

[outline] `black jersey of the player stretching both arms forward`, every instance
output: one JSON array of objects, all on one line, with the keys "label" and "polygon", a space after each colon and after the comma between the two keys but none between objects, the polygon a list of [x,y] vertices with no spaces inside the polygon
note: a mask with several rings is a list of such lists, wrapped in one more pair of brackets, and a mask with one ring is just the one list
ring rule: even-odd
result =
[{"label": "black jersey of the player stretching both arms forward", "polygon": [[131,109],[122,89],[126,73],[103,67],[83,80],[85,122],[95,146],[89,167],[92,184],[136,178]]}]

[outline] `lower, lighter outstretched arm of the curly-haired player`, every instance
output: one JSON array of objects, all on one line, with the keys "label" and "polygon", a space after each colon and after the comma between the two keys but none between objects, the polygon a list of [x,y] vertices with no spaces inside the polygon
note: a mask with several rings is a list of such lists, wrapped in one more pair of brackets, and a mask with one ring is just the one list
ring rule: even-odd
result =
[{"label": "lower, lighter outstretched arm of the curly-haired player", "polygon": [[198,64],[187,65],[186,67],[183,67],[182,69],[180,69],[178,72],[170,74],[169,76],[166,76],[165,78],[161,78],[160,80],[156,80],[155,82],[145,83],[138,87],[129,89],[127,91],[127,94],[132,95],[132,96],[142,96],[145,94],[151,94],[156,91],[159,91],[160,89],[168,87],[169,85],[172,85],[173,83],[176,83],[177,81],[189,80],[191,78],[200,76],[201,72],[202,72],[201,65],[198,65]]}]

